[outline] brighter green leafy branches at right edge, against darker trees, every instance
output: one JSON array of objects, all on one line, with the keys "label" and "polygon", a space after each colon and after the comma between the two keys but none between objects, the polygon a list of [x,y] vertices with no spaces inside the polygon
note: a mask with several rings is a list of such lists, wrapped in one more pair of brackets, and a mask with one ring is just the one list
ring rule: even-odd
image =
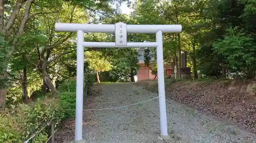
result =
[{"label": "brighter green leafy branches at right edge, against darker trees", "polygon": [[256,70],[256,44],[253,39],[240,33],[237,28],[226,30],[224,39],[214,43],[214,50],[224,56],[227,68],[233,72],[243,72],[253,77]]}]

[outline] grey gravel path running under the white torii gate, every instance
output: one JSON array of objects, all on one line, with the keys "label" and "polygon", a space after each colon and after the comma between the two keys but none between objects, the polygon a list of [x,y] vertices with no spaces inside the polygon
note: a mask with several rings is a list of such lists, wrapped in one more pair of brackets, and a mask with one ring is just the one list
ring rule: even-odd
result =
[{"label": "grey gravel path running under the white torii gate", "polygon": [[[102,90],[92,108],[109,108],[155,98],[133,83],[99,84]],[[90,106],[90,105],[89,105]],[[85,142],[100,143],[256,143],[256,135],[237,126],[218,121],[185,105],[166,99],[170,139],[161,140],[158,99],[129,107],[84,111],[92,121],[84,125]]]}]

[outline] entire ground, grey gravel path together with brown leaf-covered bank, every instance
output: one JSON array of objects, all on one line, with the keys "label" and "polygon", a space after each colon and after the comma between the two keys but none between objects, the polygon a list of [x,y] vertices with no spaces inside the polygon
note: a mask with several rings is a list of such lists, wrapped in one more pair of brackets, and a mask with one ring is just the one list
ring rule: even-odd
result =
[{"label": "entire ground, grey gravel path together with brown leaf-covered bank", "polygon": [[[167,80],[165,84],[172,139],[164,141],[157,137],[160,134],[157,99],[121,109],[85,111],[84,139],[105,143],[256,141],[255,82]],[[157,96],[156,80],[99,84],[94,95],[86,98],[84,109],[123,106]],[[74,120],[70,120],[57,132],[55,142],[69,143],[73,138]]]}]

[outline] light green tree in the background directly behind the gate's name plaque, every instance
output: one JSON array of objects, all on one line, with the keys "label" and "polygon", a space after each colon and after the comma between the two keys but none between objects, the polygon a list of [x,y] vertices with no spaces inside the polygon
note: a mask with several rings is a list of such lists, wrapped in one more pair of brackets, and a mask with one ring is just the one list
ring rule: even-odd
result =
[{"label": "light green tree in the background directly behind the gate's name plaque", "polygon": [[[124,14],[116,14],[112,18],[104,19],[104,23],[108,24],[114,24],[119,21],[127,24],[137,23],[135,19]],[[106,39],[112,42],[115,37],[113,34],[109,34]],[[127,41],[143,42],[144,39],[143,35],[140,34],[127,34]],[[102,49],[101,51],[109,58],[109,61],[111,61],[114,66],[113,69],[109,71],[111,77],[123,81],[135,81],[134,76],[137,75],[137,68],[139,67],[137,48],[108,48]]]}]

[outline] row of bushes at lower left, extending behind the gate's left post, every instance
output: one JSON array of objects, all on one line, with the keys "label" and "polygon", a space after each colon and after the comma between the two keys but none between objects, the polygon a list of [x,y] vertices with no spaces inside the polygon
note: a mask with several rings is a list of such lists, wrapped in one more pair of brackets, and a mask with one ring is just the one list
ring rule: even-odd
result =
[{"label": "row of bushes at lower left, extending behind the gate's left post", "polygon": [[[94,79],[85,76],[84,87],[89,94]],[[0,142],[22,143],[50,122],[58,123],[75,117],[76,82],[69,79],[59,85],[58,97],[44,97],[30,104],[10,105],[0,114]],[[46,142],[50,136],[48,128],[40,131],[30,140],[33,143]]]}]

